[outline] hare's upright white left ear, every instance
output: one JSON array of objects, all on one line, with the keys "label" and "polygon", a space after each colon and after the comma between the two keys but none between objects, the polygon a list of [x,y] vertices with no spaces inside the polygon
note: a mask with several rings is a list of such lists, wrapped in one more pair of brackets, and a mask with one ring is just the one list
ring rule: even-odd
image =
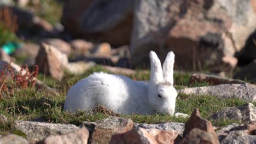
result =
[{"label": "hare's upright white left ear", "polygon": [[158,83],[163,80],[161,62],[154,51],[150,51],[150,81]]}]

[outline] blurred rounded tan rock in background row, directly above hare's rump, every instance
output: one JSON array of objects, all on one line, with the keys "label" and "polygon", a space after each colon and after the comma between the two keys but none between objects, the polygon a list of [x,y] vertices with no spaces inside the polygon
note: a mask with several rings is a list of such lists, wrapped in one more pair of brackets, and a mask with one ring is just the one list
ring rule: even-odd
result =
[{"label": "blurred rounded tan rock in background row, directly above hare's rump", "polygon": [[74,53],[77,55],[84,55],[87,53],[89,50],[92,49],[94,44],[82,40],[82,39],[75,39],[70,41],[71,48],[73,49]]}]

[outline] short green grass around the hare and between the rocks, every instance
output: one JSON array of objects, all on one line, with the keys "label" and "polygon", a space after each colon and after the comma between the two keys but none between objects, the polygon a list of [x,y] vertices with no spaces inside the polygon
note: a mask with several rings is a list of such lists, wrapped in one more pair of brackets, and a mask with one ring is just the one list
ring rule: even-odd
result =
[{"label": "short green grass around the hare and between the rocks", "polygon": [[[57,88],[59,95],[45,94],[42,91],[36,91],[34,88],[13,89],[14,95],[10,98],[0,99],[0,114],[7,116],[9,121],[0,125],[0,134],[13,132],[19,133],[13,128],[13,123],[17,120],[33,121],[40,118],[49,123],[66,123],[79,125],[83,121],[97,121],[104,119],[109,115],[104,113],[92,113],[78,111],[77,113],[67,113],[63,111],[66,93],[74,83],[93,73],[94,71],[106,71],[100,66],[92,68],[83,75],[71,75],[66,73],[61,82],[54,81],[49,77],[39,75],[39,79],[44,81],[50,87]],[[188,84],[189,74],[174,73],[177,83]],[[134,78],[134,77],[133,77]],[[135,75],[136,80],[148,80],[149,75]],[[207,83],[197,83],[196,85],[207,85]],[[226,107],[243,105],[246,101],[240,99],[218,99],[212,95],[185,95],[179,94],[176,102],[176,112],[191,114],[197,107],[203,118],[208,118],[213,113],[223,110]],[[256,105],[256,103],[254,103]],[[188,118],[176,118],[168,115],[120,115],[120,117],[131,118],[137,123],[163,123],[163,122],[182,122],[185,123]],[[232,120],[212,121],[214,125],[228,125]]]}]

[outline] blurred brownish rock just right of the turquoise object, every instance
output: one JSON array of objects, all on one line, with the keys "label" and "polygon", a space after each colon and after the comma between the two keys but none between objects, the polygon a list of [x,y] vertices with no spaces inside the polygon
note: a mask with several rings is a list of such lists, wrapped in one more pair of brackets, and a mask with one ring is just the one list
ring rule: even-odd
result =
[{"label": "blurred brownish rock just right of the turquoise object", "polygon": [[20,49],[17,49],[13,55],[15,57],[36,57],[40,46],[34,43],[24,43]]}]

